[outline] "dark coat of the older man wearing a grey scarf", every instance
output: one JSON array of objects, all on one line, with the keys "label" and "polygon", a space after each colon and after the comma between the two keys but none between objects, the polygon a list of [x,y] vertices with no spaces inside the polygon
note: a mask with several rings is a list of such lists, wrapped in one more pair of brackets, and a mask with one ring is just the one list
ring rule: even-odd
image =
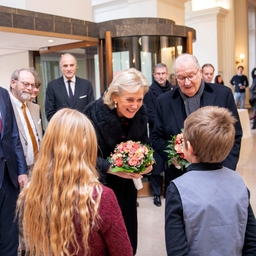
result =
[{"label": "dark coat of the older man wearing a grey scarf", "polygon": [[[201,107],[203,106],[219,106],[229,109],[234,117],[238,120],[235,123],[235,143],[227,158],[223,161],[223,165],[235,170],[239,159],[240,144],[242,138],[242,128],[234,102],[234,97],[230,88],[219,85],[205,83],[203,95],[201,97]],[[154,149],[168,161],[167,153],[164,152],[171,135],[180,133],[184,128],[184,120],[186,112],[183,99],[180,95],[179,88],[166,92],[157,98],[157,108],[155,116],[155,126],[152,133]],[[172,168],[174,171],[175,167]],[[177,172],[181,172],[176,169]]]}]

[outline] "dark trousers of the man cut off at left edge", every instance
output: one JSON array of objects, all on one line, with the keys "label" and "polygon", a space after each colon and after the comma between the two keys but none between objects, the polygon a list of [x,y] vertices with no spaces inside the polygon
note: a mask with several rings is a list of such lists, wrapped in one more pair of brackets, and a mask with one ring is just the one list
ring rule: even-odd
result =
[{"label": "dark trousers of the man cut off at left edge", "polygon": [[15,209],[19,188],[13,185],[7,167],[4,172],[0,188],[0,256],[17,256],[18,223]]}]

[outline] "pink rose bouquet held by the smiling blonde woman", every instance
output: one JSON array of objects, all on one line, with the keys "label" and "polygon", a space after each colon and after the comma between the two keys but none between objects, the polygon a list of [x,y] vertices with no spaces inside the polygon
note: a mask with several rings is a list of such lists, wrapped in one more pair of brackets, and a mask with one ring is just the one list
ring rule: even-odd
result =
[{"label": "pink rose bouquet held by the smiling blonde woman", "polygon": [[[111,172],[141,173],[154,163],[153,149],[140,141],[128,140],[116,145],[114,152],[107,158]],[[143,187],[141,179],[133,179],[137,189]]]}]

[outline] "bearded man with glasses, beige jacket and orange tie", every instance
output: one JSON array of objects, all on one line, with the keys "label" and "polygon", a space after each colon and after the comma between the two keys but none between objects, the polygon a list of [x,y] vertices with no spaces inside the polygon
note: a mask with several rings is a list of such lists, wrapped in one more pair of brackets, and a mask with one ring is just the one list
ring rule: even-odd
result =
[{"label": "bearded man with glasses, beige jacket and orange tie", "polygon": [[[10,98],[19,129],[29,177],[31,176],[43,136],[40,107],[30,101],[35,88],[35,77],[32,72],[31,69],[25,68],[15,70],[12,73],[10,83]],[[19,220],[19,222],[21,221]],[[22,225],[19,223],[19,253],[21,256],[25,255],[25,249]]]}]

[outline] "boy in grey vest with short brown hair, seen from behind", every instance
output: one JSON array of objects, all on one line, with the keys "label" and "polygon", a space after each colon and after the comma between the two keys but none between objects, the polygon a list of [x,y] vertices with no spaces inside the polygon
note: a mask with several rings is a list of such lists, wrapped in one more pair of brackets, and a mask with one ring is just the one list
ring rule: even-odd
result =
[{"label": "boy in grey vest with short brown hair, seen from behind", "polygon": [[165,240],[171,256],[256,255],[256,221],[242,177],[220,163],[235,138],[232,113],[202,107],[184,122],[187,172],[166,192]]}]

